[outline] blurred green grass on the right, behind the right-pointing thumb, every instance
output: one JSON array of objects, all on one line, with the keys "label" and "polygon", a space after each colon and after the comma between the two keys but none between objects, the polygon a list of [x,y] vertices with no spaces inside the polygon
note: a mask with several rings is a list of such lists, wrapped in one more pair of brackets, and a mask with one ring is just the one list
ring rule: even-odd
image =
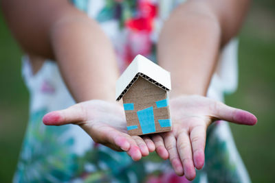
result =
[{"label": "blurred green grass on the right, behind the right-pointing thumb", "polygon": [[240,36],[239,88],[226,102],[256,114],[254,127],[231,125],[252,182],[274,182],[275,14],[252,9]]}]

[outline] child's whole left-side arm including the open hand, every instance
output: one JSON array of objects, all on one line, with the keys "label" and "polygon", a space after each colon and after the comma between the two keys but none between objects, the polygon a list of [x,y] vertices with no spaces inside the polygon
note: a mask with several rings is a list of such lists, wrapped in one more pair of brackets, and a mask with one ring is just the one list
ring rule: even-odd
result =
[{"label": "child's whole left-side arm including the open hand", "polygon": [[[147,144],[126,134],[124,111],[115,101],[118,66],[107,36],[96,21],[67,0],[4,0],[5,19],[26,53],[56,60],[63,79],[78,103],[68,110],[50,112],[47,125],[80,125],[93,140],[127,151],[134,160],[148,155]],[[150,146],[150,145],[149,145]],[[151,151],[154,150],[151,145]]]}]

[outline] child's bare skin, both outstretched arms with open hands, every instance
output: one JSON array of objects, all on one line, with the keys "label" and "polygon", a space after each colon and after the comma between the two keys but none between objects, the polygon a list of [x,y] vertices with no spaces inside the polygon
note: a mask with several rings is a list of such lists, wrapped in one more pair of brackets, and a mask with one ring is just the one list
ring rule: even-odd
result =
[{"label": "child's bare skin, both outstretched arms with open hands", "polygon": [[41,58],[56,60],[72,96],[80,102],[46,114],[46,125],[80,125],[97,143],[127,151],[133,160],[156,150],[188,180],[195,178],[195,168],[203,167],[206,130],[213,121],[256,123],[253,114],[204,97],[219,53],[239,31],[248,4],[248,0],[197,0],[173,11],[157,43],[159,64],[172,77],[173,130],[140,138],[126,134],[122,106],[113,103],[118,66],[111,42],[96,21],[65,0],[1,1],[14,37],[32,56],[33,68],[39,70]]}]

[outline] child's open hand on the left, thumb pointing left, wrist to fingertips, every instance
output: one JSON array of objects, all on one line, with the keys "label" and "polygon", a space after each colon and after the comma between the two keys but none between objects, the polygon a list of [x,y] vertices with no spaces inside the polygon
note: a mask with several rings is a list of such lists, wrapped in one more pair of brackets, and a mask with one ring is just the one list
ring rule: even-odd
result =
[{"label": "child's open hand on the left, thumb pointing left, wrist to fingertips", "polygon": [[133,160],[155,151],[150,138],[129,136],[126,131],[124,110],[118,103],[91,100],[65,110],[50,112],[43,117],[45,125],[79,125],[96,143],[116,151],[126,151]]}]

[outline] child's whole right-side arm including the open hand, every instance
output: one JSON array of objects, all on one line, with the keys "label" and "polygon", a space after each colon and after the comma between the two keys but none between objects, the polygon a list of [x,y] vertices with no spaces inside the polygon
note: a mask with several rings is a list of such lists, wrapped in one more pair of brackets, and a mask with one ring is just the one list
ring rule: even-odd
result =
[{"label": "child's whole right-side arm including the open hand", "polygon": [[[168,157],[177,175],[188,180],[195,178],[195,168],[203,167],[206,130],[213,121],[256,123],[248,112],[199,96],[206,96],[220,50],[236,36],[248,4],[248,0],[187,1],[170,15],[159,36],[157,58],[171,72],[173,130],[153,136],[153,141],[159,156]],[[168,153],[158,151],[159,144]]]}]

